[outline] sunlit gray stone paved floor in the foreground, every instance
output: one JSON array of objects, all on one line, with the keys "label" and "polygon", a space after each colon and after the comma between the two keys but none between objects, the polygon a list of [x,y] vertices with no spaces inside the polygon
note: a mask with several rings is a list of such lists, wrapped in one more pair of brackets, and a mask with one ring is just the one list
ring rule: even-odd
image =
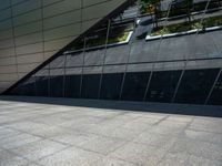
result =
[{"label": "sunlit gray stone paved floor in the foreground", "polygon": [[222,118],[0,101],[0,166],[221,166]]}]

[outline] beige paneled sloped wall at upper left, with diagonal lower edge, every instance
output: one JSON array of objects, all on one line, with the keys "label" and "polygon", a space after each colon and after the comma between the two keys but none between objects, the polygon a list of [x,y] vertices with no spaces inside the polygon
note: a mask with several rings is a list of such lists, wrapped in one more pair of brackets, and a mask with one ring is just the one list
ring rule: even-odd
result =
[{"label": "beige paneled sloped wall at upper left, with diagonal lower edge", "polygon": [[125,0],[0,0],[0,93]]}]

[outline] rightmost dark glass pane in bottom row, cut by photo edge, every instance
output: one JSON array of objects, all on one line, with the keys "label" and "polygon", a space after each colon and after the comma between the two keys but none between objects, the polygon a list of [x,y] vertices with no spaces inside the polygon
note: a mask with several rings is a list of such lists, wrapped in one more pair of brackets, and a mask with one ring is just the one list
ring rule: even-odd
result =
[{"label": "rightmost dark glass pane in bottom row, cut by photo edge", "polygon": [[210,97],[209,104],[222,105],[222,73],[213,87],[213,93]]}]

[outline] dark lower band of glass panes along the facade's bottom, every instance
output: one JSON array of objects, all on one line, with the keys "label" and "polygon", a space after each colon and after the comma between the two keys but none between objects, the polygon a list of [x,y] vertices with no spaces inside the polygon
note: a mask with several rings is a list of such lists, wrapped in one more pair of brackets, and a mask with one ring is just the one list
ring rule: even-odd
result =
[{"label": "dark lower band of glass panes along the facade's bottom", "polygon": [[[188,70],[184,74],[182,71],[158,71],[153,72],[152,76],[150,72],[127,72],[125,75],[103,73],[102,81],[101,73],[83,74],[82,77],[81,75],[47,76],[48,71],[41,71],[41,76],[30,77],[11,91],[11,94],[140,102],[145,98],[147,102],[170,103],[176,93],[175,103],[204,104],[220,69]],[[213,86],[208,104],[221,104],[221,84],[222,75]],[[176,85],[179,85],[178,91]]]}]

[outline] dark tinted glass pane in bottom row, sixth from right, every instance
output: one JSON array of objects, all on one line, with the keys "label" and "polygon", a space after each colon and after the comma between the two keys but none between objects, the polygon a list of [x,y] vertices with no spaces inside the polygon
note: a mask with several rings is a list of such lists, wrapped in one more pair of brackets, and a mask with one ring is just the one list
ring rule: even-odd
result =
[{"label": "dark tinted glass pane in bottom row, sixth from right", "polygon": [[101,74],[83,75],[82,81],[82,97],[98,98]]}]

